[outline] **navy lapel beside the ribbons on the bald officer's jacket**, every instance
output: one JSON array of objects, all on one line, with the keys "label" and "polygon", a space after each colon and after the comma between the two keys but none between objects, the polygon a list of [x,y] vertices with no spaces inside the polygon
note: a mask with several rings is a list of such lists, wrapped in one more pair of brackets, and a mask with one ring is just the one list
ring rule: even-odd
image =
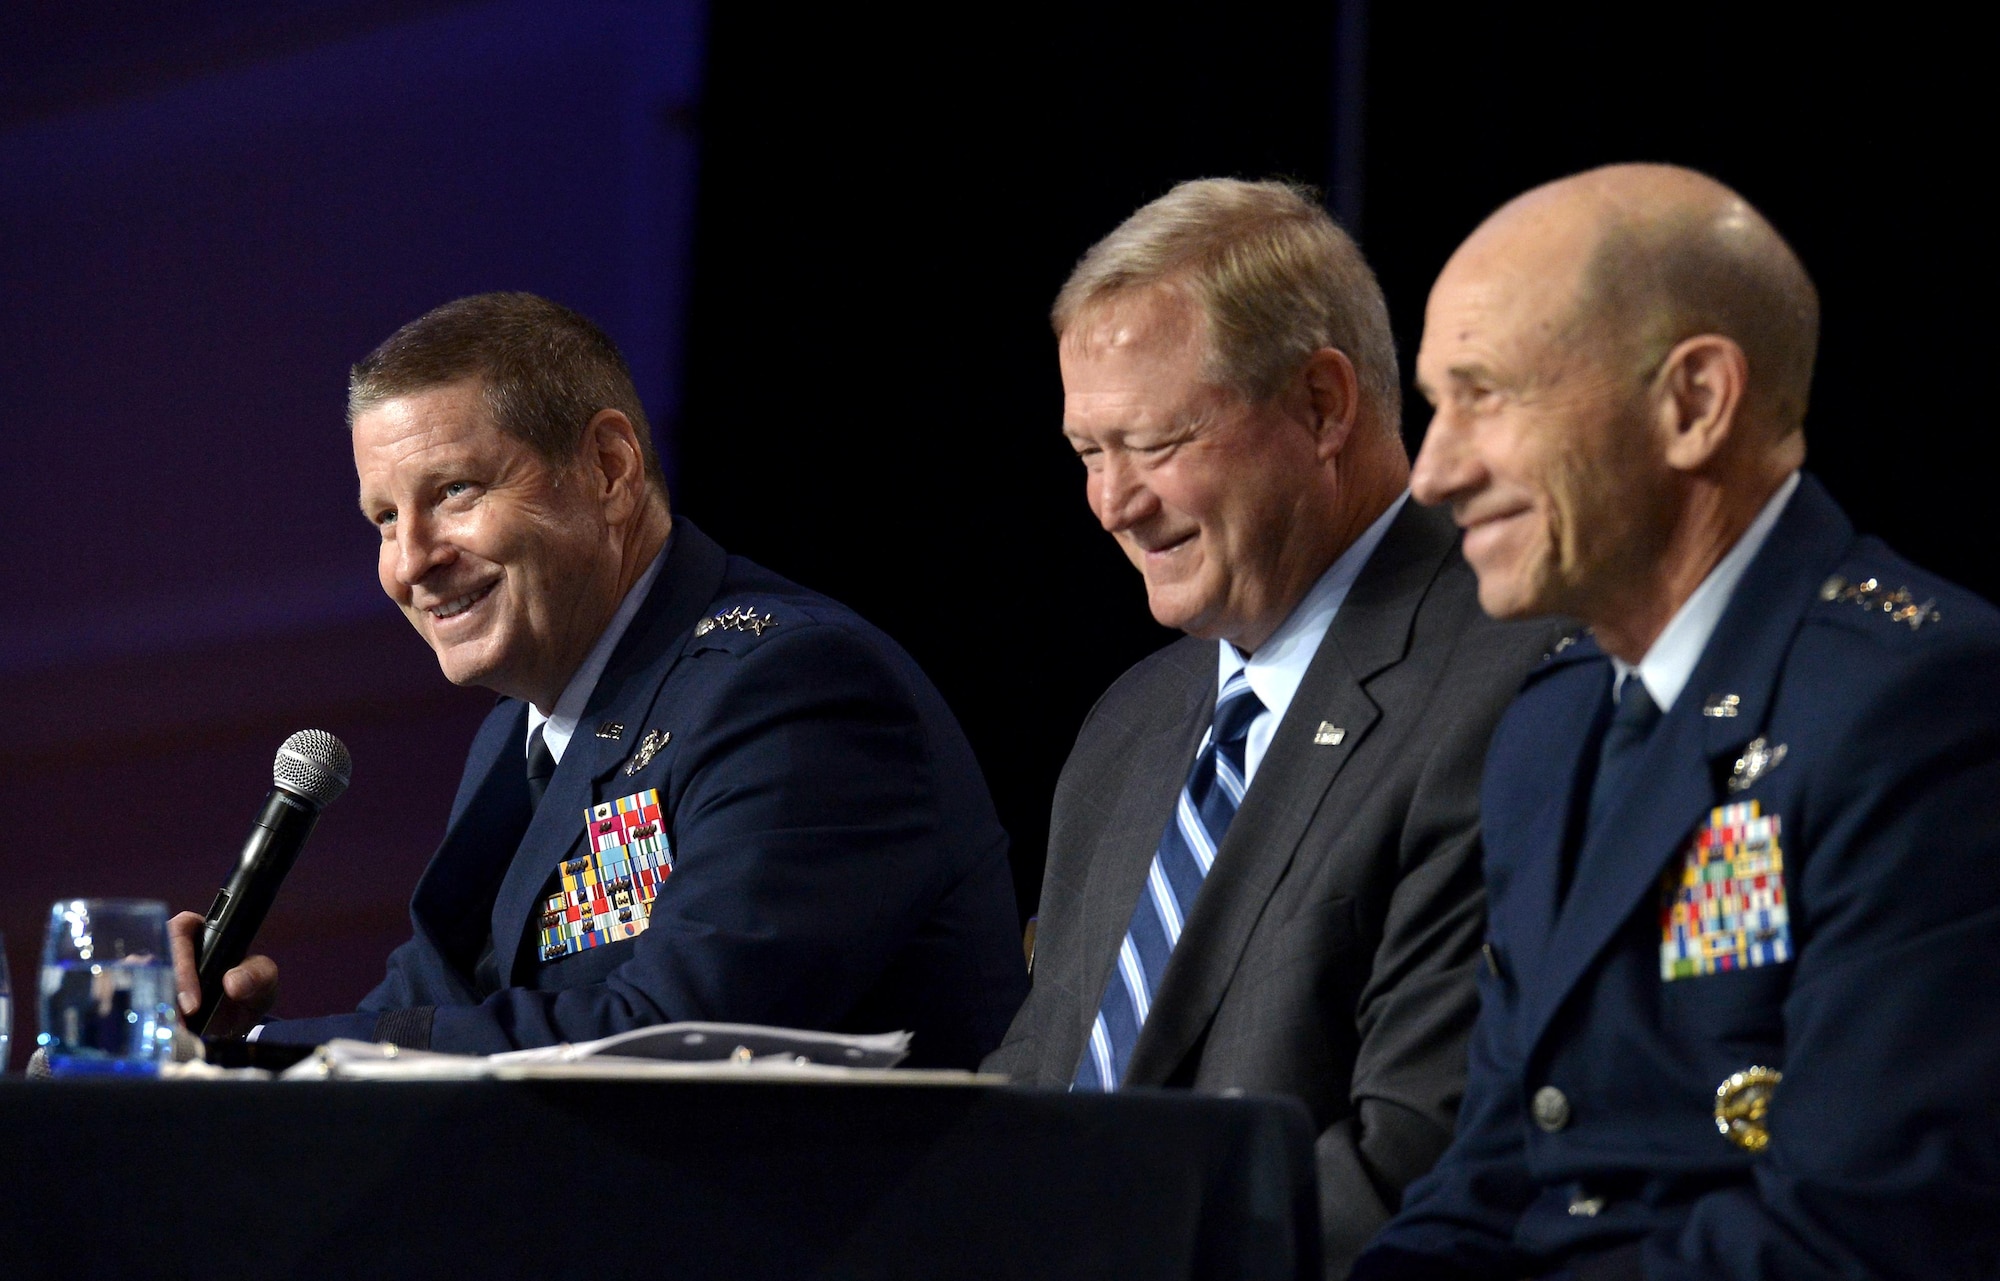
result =
[{"label": "navy lapel beside the ribbons on the bald officer's jacket", "polygon": [[[1812,476],[1804,476],[1736,584],[1686,689],[1654,727],[1630,775],[1638,785],[1612,799],[1604,823],[1578,853],[1576,883],[1546,935],[1544,963],[1534,983],[1524,985],[1524,1053],[1540,1041],[1606,943],[1640,903],[1652,901],[1668,863],[1720,803],[1728,761],[1764,729],[1784,655],[1814,588],[1852,540],[1846,516]],[[1702,707],[1724,693],[1738,697],[1736,715],[1704,717]],[[1560,859],[1560,847],[1530,857],[1550,863]]]}]

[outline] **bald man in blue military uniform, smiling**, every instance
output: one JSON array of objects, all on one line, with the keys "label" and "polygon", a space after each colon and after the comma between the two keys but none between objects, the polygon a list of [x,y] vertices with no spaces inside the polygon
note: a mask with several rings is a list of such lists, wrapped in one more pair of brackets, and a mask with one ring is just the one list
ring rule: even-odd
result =
[{"label": "bald man in blue military uniform, smiling", "polygon": [[1616,166],[1446,264],[1414,490],[1502,616],[1592,624],[1486,767],[1450,1153],[1358,1277],[1992,1277],[2000,614],[1798,468],[1804,266]]}]

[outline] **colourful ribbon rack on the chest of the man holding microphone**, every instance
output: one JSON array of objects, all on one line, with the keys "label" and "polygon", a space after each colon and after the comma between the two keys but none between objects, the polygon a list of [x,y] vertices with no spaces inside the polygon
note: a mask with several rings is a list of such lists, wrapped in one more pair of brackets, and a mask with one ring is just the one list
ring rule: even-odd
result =
[{"label": "colourful ribbon rack on the chest of the man holding microphone", "polygon": [[674,871],[660,789],[586,809],[584,845],[588,853],[556,869],[562,889],[542,903],[542,961],[646,933],[652,901]]}]

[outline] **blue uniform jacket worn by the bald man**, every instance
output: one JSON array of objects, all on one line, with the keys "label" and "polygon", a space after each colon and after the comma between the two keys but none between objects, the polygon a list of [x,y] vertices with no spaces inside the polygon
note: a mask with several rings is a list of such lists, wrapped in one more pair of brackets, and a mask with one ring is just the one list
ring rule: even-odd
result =
[{"label": "blue uniform jacket worn by the bald man", "polygon": [[[1558,907],[1608,689],[1582,640],[1494,739],[1460,1133],[1358,1275],[2000,1275],[2000,614],[1806,476]],[[1736,791],[1758,739],[1784,757]],[[1750,803],[1792,959],[1666,981],[1688,845]],[[1714,1121],[1748,1067],[1784,1073],[1754,1155]],[[1542,1089],[1564,1125],[1534,1123]]]}]

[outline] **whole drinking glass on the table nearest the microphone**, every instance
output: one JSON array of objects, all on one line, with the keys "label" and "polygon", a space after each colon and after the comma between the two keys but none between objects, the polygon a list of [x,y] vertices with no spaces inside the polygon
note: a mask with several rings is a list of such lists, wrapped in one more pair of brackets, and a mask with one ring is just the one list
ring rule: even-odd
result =
[{"label": "whole drinking glass on the table nearest the microphone", "polygon": [[166,905],[64,899],[42,949],[42,1049],[58,1075],[154,1075],[174,1057]]}]

